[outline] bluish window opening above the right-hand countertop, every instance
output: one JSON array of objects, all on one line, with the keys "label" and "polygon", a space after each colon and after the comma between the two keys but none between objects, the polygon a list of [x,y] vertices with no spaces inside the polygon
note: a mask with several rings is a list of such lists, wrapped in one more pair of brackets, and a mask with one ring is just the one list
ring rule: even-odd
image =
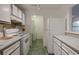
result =
[{"label": "bluish window opening above the right-hand countertop", "polygon": [[79,4],[72,8],[72,31],[79,32]]}]

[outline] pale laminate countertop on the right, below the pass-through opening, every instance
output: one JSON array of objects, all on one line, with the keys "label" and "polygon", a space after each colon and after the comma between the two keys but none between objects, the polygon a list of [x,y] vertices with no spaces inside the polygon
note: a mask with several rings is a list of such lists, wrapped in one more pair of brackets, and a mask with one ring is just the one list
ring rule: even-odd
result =
[{"label": "pale laminate countertop on the right, below the pass-through opening", "polygon": [[67,35],[54,35],[55,38],[60,40],[62,43],[66,44],[68,47],[73,49],[75,52],[79,54],[79,39],[70,37]]}]

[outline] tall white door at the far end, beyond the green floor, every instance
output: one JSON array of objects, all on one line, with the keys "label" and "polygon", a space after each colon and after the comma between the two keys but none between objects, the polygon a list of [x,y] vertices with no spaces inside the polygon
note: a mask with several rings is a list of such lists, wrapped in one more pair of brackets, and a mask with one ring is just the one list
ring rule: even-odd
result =
[{"label": "tall white door at the far end, beyond the green floor", "polygon": [[32,33],[34,40],[43,39],[43,16],[32,16]]}]

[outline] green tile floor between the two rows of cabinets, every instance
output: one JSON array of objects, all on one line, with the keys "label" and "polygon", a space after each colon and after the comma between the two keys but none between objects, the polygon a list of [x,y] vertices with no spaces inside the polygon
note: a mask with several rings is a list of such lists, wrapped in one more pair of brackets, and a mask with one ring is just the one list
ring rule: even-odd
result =
[{"label": "green tile floor between the two rows of cabinets", "polygon": [[47,48],[43,47],[43,40],[37,39],[32,42],[28,55],[47,55]]}]

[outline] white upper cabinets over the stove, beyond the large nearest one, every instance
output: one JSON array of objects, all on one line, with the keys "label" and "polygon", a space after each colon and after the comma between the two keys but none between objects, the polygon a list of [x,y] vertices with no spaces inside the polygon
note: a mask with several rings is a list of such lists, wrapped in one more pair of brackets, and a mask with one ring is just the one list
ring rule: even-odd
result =
[{"label": "white upper cabinets over the stove, beyond the large nearest one", "polygon": [[24,13],[23,11],[18,8],[16,5],[11,6],[11,20],[15,20],[21,22],[24,25]]}]

